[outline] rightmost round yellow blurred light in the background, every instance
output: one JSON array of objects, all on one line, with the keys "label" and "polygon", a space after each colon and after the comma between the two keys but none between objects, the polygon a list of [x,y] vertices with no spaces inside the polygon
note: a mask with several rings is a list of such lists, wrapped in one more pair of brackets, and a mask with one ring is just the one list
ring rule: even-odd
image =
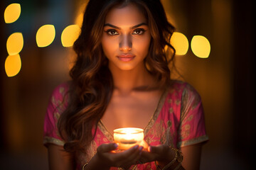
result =
[{"label": "rightmost round yellow blurred light in the background", "polygon": [[202,35],[195,35],[191,40],[191,50],[199,58],[208,58],[210,55],[210,42]]}]

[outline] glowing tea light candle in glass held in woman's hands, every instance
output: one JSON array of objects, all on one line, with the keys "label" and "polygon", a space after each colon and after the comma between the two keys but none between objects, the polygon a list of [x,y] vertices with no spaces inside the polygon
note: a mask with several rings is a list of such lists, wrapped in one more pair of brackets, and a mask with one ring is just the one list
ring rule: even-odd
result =
[{"label": "glowing tea light candle in glass held in woman's hands", "polygon": [[144,132],[141,128],[119,128],[114,130],[114,142],[121,150],[139,145],[143,139]]}]

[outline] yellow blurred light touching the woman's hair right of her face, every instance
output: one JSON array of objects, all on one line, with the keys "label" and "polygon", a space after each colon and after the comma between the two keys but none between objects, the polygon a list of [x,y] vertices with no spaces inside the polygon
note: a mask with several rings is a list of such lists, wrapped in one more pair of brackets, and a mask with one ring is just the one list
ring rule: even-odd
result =
[{"label": "yellow blurred light touching the woman's hair right of her face", "polygon": [[174,32],[171,36],[171,45],[176,50],[176,55],[186,55],[188,52],[188,38],[183,33]]}]

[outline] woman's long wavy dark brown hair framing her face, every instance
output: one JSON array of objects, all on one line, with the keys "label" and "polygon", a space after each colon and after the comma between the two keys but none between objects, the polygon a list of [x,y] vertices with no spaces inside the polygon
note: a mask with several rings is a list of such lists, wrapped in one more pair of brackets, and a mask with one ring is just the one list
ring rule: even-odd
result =
[{"label": "woman's long wavy dark brown hair framing her face", "polygon": [[[174,33],[159,0],[90,0],[87,4],[82,29],[74,43],[77,54],[75,65],[70,70],[68,108],[60,116],[58,129],[65,140],[68,152],[82,151],[95,137],[93,128],[105,113],[113,91],[112,74],[108,60],[102,51],[101,38],[105,16],[114,6],[132,3],[144,13],[151,33],[151,44],[145,64],[155,77],[158,86],[170,83],[169,62],[174,60],[175,50],[169,43]],[[171,55],[169,53],[171,52]]]}]

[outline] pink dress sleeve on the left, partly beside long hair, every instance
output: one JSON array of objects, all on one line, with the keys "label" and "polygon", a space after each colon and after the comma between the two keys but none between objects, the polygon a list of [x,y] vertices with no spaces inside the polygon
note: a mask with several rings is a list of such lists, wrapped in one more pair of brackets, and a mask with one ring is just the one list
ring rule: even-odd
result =
[{"label": "pink dress sleeve on the left, partly beside long hair", "polygon": [[46,147],[50,143],[60,146],[64,145],[64,141],[58,132],[58,119],[60,114],[65,111],[65,91],[65,84],[61,84],[53,90],[50,96],[43,125],[43,145]]}]

